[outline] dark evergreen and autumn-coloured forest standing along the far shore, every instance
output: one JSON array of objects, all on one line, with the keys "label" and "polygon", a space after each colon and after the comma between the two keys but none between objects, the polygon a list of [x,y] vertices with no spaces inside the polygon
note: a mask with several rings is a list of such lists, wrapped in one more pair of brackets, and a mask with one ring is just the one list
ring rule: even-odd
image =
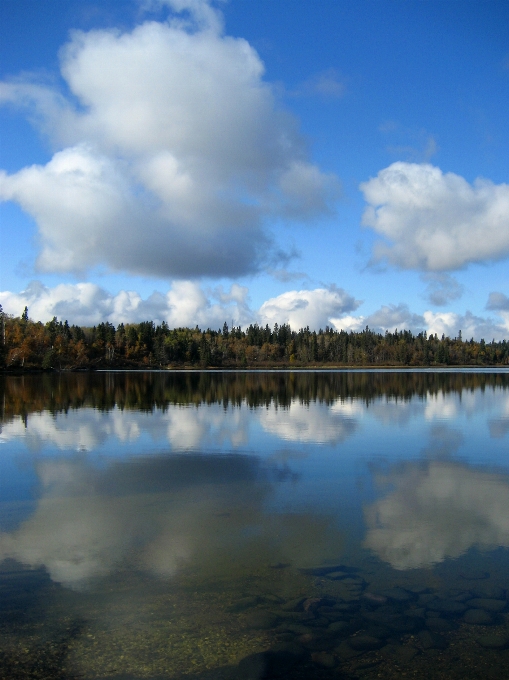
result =
[{"label": "dark evergreen and autumn-coloured forest standing along the far shore", "polygon": [[[0,312],[1,313],[1,312]],[[1,314],[0,367],[19,369],[93,368],[270,368],[308,366],[494,366],[509,363],[509,344],[464,341],[411,331],[385,334],[292,330],[252,324],[229,328],[170,329],[155,324],[109,322],[92,328],[70,326],[56,317],[46,324]]]}]

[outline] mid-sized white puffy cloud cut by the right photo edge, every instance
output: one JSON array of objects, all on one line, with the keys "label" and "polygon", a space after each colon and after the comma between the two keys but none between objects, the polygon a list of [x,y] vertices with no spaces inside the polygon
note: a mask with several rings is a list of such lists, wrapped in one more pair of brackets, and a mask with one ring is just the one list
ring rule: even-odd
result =
[{"label": "mid-sized white puffy cloud cut by the right photo edge", "polygon": [[507,184],[397,162],[360,188],[369,204],[363,224],[386,239],[375,244],[375,261],[446,271],[509,254]]}]

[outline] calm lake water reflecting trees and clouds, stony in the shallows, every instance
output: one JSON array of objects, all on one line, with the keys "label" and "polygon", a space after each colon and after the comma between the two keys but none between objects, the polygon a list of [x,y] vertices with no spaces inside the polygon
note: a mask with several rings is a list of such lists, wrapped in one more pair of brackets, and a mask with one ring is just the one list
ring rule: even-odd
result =
[{"label": "calm lake water reflecting trees and clouds, stony in the shallows", "polygon": [[509,373],[0,378],[0,678],[509,677]]}]

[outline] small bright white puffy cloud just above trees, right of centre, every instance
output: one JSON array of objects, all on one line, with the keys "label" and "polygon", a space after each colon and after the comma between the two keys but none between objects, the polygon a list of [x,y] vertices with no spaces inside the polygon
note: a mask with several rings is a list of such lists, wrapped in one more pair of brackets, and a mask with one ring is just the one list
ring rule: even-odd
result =
[{"label": "small bright white puffy cloud just above trees, right of centre", "polygon": [[338,315],[359,305],[360,302],[342,288],[291,290],[264,302],[258,315],[263,325],[289,323],[295,330],[306,326],[318,330],[333,326]]}]

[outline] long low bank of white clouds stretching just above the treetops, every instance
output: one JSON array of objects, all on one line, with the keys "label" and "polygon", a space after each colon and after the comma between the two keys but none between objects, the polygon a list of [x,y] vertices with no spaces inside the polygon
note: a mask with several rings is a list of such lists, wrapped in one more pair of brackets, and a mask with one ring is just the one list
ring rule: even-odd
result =
[{"label": "long low bank of white clouds stretching just above the treetops", "polygon": [[165,293],[154,291],[143,299],[136,291],[121,290],[111,294],[95,283],[60,284],[49,288],[32,281],[24,291],[0,291],[0,304],[7,314],[20,316],[28,307],[30,318],[47,322],[54,316],[67,319],[70,324],[94,326],[102,321],[139,323],[153,320],[166,321],[170,328],[221,328],[228,325],[245,328],[251,323],[262,326],[288,323],[294,330],[310,327],[318,331],[326,326],[336,330],[360,331],[366,326],[375,332],[386,330],[426,331],[442,337],[454,338],[459,331],[465,340],[474,338],[486,341],[503,340],[509,333],[509,309],[502,293],[491,293],[487,308],[495,311],[498,320],[476,316],[467,311],[425,311],[415,314],[403,303],[382,305],[368,315],[354,315],[361,302],[342,288],[315,288],[290,290],[262,303],[253,309],[249,291],[244,286],[232,284],[229,290],[221,286],[204,288],[195,281],[174,281]]}]

